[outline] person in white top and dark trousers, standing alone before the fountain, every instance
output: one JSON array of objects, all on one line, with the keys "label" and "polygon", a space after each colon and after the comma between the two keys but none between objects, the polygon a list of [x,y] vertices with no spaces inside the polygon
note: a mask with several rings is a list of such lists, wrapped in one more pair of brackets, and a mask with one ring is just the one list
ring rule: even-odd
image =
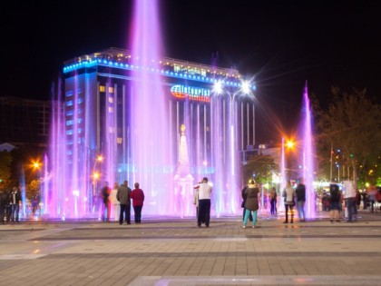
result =
[{"label": "person in white top and dark trousers, standing alone before the fountain", "polygon": [[205,220],[205,226],[209,227],[210,223],[210,195],[211,186],[208,178],[204,177],[194,189],[199,189],[199,213],[197,216],[197,226],[201,227],[201,223]]}]

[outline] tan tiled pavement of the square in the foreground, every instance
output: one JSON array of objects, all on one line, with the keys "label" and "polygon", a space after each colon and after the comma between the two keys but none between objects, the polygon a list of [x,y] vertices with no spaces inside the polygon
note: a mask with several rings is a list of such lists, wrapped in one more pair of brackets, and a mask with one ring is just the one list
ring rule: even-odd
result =
[{"label": "tan tiled pavement of the square in the foreground", "polygon": [[381,285],[381,214],[318,215],[1,225],[0,285]]}]

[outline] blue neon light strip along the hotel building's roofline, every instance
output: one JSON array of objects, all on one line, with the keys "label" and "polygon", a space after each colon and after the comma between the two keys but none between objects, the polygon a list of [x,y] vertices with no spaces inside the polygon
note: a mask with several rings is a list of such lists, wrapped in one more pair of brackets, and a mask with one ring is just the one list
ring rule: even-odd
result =
[{"label": "blue neon light strip along the hotel building's roofline", "polygon": [[[200,76],[200,75],[189,75],[189,74],[182,74],[182,73],[176,73],[176,72],[169,72],[169,71],[163,71],[159,69],[154,69],[154,68],[149,68],[149,67],[142,67],[139,65],[133,65],[133,64],[121,64],[121,63],[115,63],[112,61],[106,61],[106,60],[96,60],[96,61],[83,61],[78,64],[71,64],[68,66],[64,67],[64,74],[72,72],[74,70],[83,68],[83,67],[93,67],[96,65],[101,65],[101,66],[112,66],[116,68],[121,68],[123,70],[129,70],[129,71],[134,71],[134,70],[143,70],[145,69],[146,71],[149,71],[151,73],[160,73],[166,76],[174,77],[174,78],[181,78],[181,79],[189,79],[192,81],[196,82],[201,82],[201,83],[209,83],[209,84],[215,84],[217,82],[221,82],[225,86],[232,86],[232,87],[240,87],[242,84],[239,83],[233,83],[230,81],[221,81],[220,79],[213,79],[210,77],[205,77],[205,76]],[[255,85],[250,85],[250,89],[252,90],[257,90]]]}]

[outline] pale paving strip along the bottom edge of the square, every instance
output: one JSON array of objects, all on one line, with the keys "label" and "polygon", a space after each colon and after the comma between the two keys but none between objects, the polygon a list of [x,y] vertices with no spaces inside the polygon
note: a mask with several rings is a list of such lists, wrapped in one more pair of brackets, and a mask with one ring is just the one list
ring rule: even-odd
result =
[{"label": "pale paving strip along the bottom edge of the square", "polygon": [[129,286],[175,285],[380,285],[381,275],[141,276]]}]

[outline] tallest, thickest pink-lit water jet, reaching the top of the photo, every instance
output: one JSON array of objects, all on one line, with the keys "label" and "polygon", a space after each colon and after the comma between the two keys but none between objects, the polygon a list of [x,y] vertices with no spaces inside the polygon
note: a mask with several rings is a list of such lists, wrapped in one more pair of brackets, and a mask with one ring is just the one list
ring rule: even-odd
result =
[{"label": "tallest, thickest pink-lit water jet, reaching the top of the photo", "polygon": [[[157,1],[134,2],[131,29],[132,60],[139,66],[160,68],[162,54],[159,6]],[[130,182],[139,182],[146,194],[145,213],[166,214],[173,206],[173,173],[171,173],[171,142],[169,113],[161,75],[149,70],[136,72],[132,86],[130,119],[132,128],[132,173]],[[178,129],[177,132],[180,130]]]}]

